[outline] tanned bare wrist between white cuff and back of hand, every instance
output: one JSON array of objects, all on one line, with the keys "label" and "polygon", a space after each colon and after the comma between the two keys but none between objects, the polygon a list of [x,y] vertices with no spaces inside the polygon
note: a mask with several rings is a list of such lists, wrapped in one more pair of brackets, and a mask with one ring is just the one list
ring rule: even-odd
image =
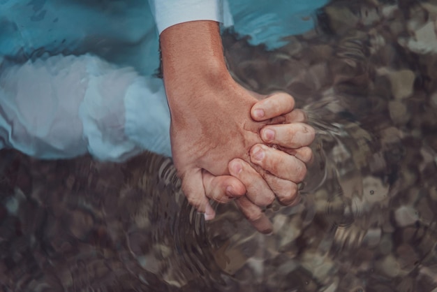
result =
[{"label": "tanned bare wrist between white cuff and back of hand", "polygon": [[211,86],[230,78],[217,22],[202,20],[168,27],[161,34],[161,52],[169,98],[174,89],[180,92],[184,87]]}]

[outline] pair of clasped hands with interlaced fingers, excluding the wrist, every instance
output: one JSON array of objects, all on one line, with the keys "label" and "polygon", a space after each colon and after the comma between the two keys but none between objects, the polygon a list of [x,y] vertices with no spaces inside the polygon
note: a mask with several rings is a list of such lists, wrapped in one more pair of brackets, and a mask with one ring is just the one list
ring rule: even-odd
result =
[{"label": "pair of clasped hands with interlaced fingers, excluding the wrist", "polygon": [[236,199],[258,231],[272,232],[262,207],[275,197],[283,205],[298,201],[313,129],[288,94],[258,101],[233,80],[191,94],[195,102],[185,110],[170,105],[172,153],[188,201],[212,219],[210,199]]}]

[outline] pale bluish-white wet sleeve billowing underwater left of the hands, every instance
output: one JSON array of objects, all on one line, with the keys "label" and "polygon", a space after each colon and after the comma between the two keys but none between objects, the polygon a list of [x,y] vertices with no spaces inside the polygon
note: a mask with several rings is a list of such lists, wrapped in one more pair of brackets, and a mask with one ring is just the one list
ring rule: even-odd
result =
[{"label": "pale bluish-white wet sleeve billowing underwater left of the hands", "polygon": [[0,97],[0,147],[43,159],[171,155],[163,82],[133,68],[88,54],[28,61],[3,70]]}]

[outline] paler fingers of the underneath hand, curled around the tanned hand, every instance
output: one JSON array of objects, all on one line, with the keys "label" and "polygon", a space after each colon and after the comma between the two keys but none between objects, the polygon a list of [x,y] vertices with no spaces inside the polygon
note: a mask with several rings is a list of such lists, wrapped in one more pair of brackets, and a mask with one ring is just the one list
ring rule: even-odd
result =
[{"label": "paler fingers of the underneath hand, curled around the tanned hand", "polygon": [[[251,199],[263,196],[256,188],[256,181],[259,182],[260,175],[281,204],[295,205],[299,202],[297,184],[306,174],[306,168],[301,168],[302,163],[297,159],[309,163],[313,157],[308,145],[314,140],[314,129],[304,124],[304,112],[294,110],[294,104],[293,98],[288,94],[277,93],[255,103],[251,109],[251,117],[254,120],[267,122],[278,117],[283,119],[283,124],[270,124],[260,131],[263,142],[273,147],[263,144],[251,147],[252,163],[262,168],[259,175],[241,159],[233,159],[229,164],[230,173],[246,186],[248,194],[237,198],[235,202],[258,231],[272,231],[272,224],[260,206],[255,204],[255,200]],[[259,155],[259,152],[262,152],[262,159],[255,157],[255,153]],[[236,171],[239,169],[236,163],[244,166],[240,173]]]}]

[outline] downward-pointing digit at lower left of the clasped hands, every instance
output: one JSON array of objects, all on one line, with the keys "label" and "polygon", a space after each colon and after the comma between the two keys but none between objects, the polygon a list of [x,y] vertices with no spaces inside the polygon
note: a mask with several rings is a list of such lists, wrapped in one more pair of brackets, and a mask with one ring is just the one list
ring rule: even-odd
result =
[{"label": "downward-pointing digit at lower left of the clasped hands", "polygon": [[198,212],[205,215],[205,220],[214,219],[216,212],[212,209],[205,195],[205,188],[202,182],[202,170],[200,168],[188,170],[182,175],[182,191],[184,191],[188,202],[195,207]]}]

